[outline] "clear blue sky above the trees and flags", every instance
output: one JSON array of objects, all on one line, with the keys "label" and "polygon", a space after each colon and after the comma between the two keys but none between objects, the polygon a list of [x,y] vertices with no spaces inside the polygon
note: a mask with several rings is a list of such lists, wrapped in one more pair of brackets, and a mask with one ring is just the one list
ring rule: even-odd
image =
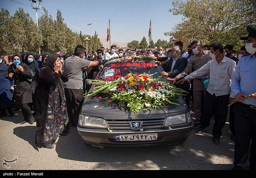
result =
[{"label": "clear blue sky above the trees and flags", "polygon": [[[15,3],[13,1],[22,3]],[[0,8],[7,9],[11,15],[22,7],[36,22],[36,12],[30,6],[29,0],[0,0]],[[23,5],[27,4],[27,5]],[[93,35],[95,30],[100,38],[107,38],[108,19],[110,19],[111,40],[120,43],[141,41],[145,36],[148,40],[149,22],[151,19],[152,39],[169,41],[164,32],[172,30],[181,21],[182,16],[174,16],[168,12],[172,8],[172,0],[43,0],[45,7],[53,19],[56,19],[57,9],[60,9],[64,22],[81,28],[83,34]],[[38,18],[41,16],[38,13]],[[70,27],[72,30],[77,30]]]}]

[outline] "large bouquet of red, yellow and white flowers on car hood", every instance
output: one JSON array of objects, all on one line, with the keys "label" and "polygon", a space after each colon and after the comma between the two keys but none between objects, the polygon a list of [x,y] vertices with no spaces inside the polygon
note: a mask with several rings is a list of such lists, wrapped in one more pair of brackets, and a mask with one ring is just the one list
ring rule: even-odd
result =
[{"label": "large bouquet of red, yellow and white flowers on car hood", "polygon": [[134,113],[139,113],[141,109],[159,109],[169,104],[179,105],[172,100],[182,95],[184,90],[169,82],[159,81],[162,76],[153,78],[152,75],[130,72],[126,76],[119,76],[115,73],[113,77],[92,80],[90,83],[93,88],[85,97],[108,98],[109,102],[116,102],[119,107],[127,106]]}]

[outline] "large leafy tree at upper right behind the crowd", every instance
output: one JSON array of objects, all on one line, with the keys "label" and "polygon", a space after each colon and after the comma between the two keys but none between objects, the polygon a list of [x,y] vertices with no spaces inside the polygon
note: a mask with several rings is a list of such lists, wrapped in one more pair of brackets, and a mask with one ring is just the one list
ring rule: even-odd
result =
[{"label": "large leafy tree at upper right behind the crowd", "polygon": [[183,15],[183,22],[164,35],[174,36],[184,46],[199,39],[203,44],[231,44],[238,50],[245,43],[239,37],[248,35],[246,26],[256,25],[254,0],[175,0],[172,5],[169,12]]}]

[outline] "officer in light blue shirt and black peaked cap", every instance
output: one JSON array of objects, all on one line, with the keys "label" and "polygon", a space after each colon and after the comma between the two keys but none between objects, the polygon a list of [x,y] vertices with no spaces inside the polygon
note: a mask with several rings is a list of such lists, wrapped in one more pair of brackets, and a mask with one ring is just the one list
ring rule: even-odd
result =
[{"label": "officer in light blue shirt and black peaked cap", "polygon": [[240,40],[247,40],[245,48],[250,54],[238,62],[231,83],[238,101],[233,108],[236,130],[233,170],[245,169],[249,154],[250,169],[256,169],[256,28],[247,26],[247,30],[249,35]]}]

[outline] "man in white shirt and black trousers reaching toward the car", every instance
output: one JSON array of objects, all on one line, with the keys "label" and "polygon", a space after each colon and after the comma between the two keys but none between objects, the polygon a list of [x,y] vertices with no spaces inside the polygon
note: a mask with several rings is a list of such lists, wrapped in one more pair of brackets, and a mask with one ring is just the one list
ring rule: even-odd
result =
[{"label": "man in white shirt and black trousers reaching toward the car", "polygon": [[230,86],[231,78],[236,70],[236,62],[223,55],[224,49],[220,42],[213,42],[209,46],[212,60],[178,81],[177,84],[210,73],[210,82],[202,104],[201,126],[197,129],[197,133],[202,133],[204,128],[210,125],[210,119],[214,114],[213,143],[219,144],[221,129],[224,127],[228,116],[228,103],[231,103],[235,98],[234,94],[231,93]]}]

